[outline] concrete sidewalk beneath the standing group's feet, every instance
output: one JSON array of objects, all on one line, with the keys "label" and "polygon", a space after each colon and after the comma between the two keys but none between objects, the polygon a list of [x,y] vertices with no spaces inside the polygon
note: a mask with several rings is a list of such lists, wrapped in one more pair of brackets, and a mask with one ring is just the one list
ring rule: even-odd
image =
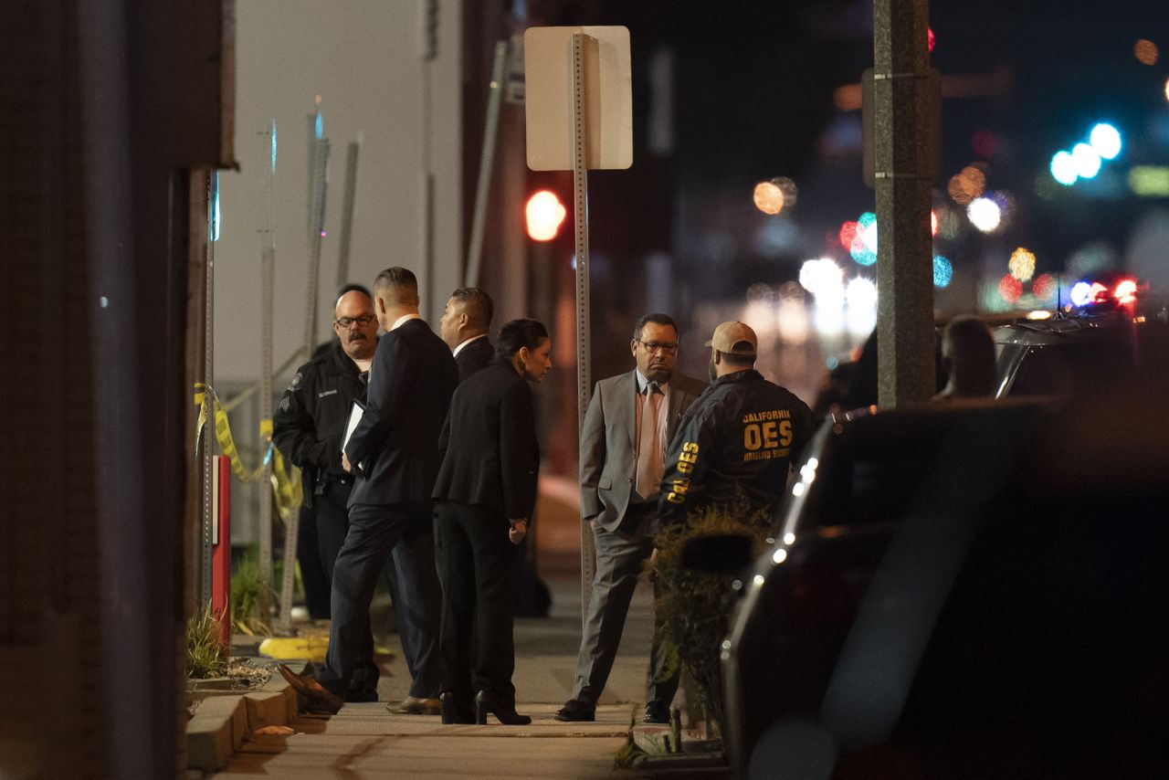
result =
[{"label": "concrete sidewalk beneath the standing group's feet", "polygon": [[[215,778],[623,778],[614,758],[628,741],[634,704],[645,698],[652,596],[638,587],[595,723],[560,723],[570,696],[580,642],[579,581],[553,577],[552,614],[516,623],[516,691],[530,726],[443,726],[436,717],[395,716],[386,702],[406,696],[410,678],[401,648],[383,667],[380,702],[348,704],[332,717],[302,716],[289,727],[249,733]],[[665,729],[662,727],[664,732]]]}]

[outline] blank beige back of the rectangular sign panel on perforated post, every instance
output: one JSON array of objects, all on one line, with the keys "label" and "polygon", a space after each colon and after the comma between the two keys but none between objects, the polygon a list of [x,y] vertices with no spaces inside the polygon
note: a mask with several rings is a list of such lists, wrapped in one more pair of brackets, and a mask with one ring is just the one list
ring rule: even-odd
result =
[{"label": "blank beige back of the rectangular sign panel on perforated post", "polygon": [[584,51],[586,161],[589,168],[634,164],[634,98],[629,28],[530,27],[524,33],[527,167],[573,170],[573,33]]}]

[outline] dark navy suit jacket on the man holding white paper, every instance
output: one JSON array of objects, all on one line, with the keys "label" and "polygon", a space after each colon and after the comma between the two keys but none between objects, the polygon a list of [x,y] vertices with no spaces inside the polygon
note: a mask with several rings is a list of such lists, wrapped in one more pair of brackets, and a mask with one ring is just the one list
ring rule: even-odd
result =
[{"label": "dark navy suit jacket on the man holding white paper", "polygon": [[424,320],[409,319],[378,340],[365,414],[345,448],[358,475],[350,505],[430,499],[438,434],[457,385],[450,347]]}]

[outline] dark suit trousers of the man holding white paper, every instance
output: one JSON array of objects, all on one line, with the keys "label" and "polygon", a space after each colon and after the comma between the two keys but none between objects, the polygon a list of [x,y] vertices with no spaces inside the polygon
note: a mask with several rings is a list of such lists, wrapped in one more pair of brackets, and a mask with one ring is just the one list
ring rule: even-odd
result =
[{"label": "dark suit trousers of the man holding white paper", "polygon": [[438,696],[442,674],[438,657],[438,578],[435,574],[434,527],[430,503],[388,506],[354,504],[350,530],[333,567],[333,624],[325,669],[317,679],[344,695],[358,669],[369,670],[362,684],[376,690],[369,633],[369,602],[378,574],[393,553],[402,595],[397,617],[416,633],[419,654],[407,655],[414,682],[410,696]]}]

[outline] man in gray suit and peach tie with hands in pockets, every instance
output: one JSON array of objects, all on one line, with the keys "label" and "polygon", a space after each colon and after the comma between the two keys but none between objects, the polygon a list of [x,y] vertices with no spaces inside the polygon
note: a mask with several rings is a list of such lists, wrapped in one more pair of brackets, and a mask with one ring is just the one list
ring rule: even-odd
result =
[{"label": "man in gray suit and peach tie with hands in pockets", "polygon": [[[637,367],[596,384],[581,429],[581,519],[596,539],[596,578],[576,657],[573,698],[556,720],[593,720],[621,643],[625,614],[653,552],[656,509],[665,448],[703,384],[673,371],[678,326],[667,315],[645,315],[630,343]],[[678,676],[657,681],[655,639],[645,689],[645,720],[666,723]]]}]

